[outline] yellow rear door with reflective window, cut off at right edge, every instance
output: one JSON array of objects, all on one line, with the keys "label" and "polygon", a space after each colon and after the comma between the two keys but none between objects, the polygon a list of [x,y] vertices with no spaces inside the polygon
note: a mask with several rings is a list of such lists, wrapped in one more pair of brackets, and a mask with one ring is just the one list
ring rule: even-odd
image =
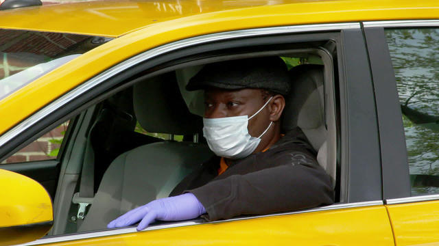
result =
[{"label": "yellow rear door with reflective window, cut off at right edge", "polygon": [[439,243],[438,23],[364,23],[383,129],[383,195],[396,245]]}]

